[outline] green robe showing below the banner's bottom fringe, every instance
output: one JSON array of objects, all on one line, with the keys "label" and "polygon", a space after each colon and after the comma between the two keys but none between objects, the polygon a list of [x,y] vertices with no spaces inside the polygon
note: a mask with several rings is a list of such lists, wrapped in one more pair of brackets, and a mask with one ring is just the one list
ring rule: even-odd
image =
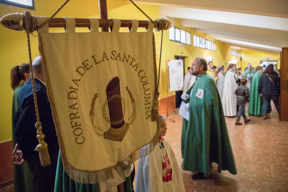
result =
[{"label": "green robe showing below the banner's bottom fringe", "polygon": [[[132,192],[130,176],[126,177],[123,184],[125,192]],[[54,192],[100,192],[100,189],[98,184],[84,184],[73,181],[63,168],[59,151]]]}]

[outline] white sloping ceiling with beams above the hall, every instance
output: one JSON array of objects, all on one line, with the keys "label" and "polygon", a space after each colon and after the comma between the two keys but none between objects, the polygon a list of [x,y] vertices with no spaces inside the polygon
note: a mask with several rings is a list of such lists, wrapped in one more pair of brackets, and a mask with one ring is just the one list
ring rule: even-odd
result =
[{"label": "white sloping ceiling with beams above the hall", "polygon": [[242,49],[280,54],[288,47],[288,0],[137,0],[159,5],[159,17]]}]

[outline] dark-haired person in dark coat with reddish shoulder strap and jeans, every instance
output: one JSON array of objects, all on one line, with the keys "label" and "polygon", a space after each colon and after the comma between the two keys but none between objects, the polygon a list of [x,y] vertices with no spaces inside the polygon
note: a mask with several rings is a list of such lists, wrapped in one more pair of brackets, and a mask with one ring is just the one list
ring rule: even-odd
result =
[{"label": "dark-haired person in dark coat with reddish shoulder strap and jeans", "polygon": [[267,109],[271,99],[273,100],[278,113],[280,112],[280,79],[278,74],[274,71],[272,64],[268,65],[259,79],[258,94],[263,97],[262,113],[264,119],[268,119]]}]

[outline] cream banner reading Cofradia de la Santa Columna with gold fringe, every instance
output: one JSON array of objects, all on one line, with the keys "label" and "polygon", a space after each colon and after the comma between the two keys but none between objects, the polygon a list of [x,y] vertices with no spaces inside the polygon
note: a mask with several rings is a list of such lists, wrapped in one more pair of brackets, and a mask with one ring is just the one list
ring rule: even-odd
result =
[{"label": "cream banner reading Cofradia de la Santa Columna with gold fringe", "polygon": [[74,18],[65,20],[66,33],[39,31],[48,96],[65,171],[77,182],[99,183],[157,143],[154,25],[136,32],[133,20],[125,33],[113,19],[111,32],[99,32],[90,18],[90,32],[75,33]]}]

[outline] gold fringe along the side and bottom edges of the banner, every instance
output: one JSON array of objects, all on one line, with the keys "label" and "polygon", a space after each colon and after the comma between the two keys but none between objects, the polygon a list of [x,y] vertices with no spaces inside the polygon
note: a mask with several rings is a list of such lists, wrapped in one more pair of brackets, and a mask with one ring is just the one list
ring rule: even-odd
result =
[{"label": "gold fringe along the side and bottom edges of the banner", "polygon": [[[153,40],[154,40],[154,34],[153,34]],[[156,66],[156,56],[155,56],[155,40],[154,42],[154,66]],[[56,134],[58,136],[58,142],[59,142],[59,148],[60,148],[60,154],[63,162],[63,167],[65,169],[65,172],[68,174],[68,176],[78,183],[85,183],[85,184],[95,184],[100,183],[106,180],[109,180],[113,178],[112,169],[115,169],[117,171],[117,166],[122,168],[122,170],[128,170],[130,166],[133,164],[134,161],[137,159],[140,159],[142,157],[145,157],[149,153],[151,153],[154,150],[154,147],[158,143],[159,138],[159,121],[157,121],[157,130],[155,133],[155,136],[152,138],[152,140],[147,144],[142,146],[141,148],[135,150],[131,155],[127,157],[127,159],[124,159],[123,161],[117,162],[114,166],[107,167],[101,170],[95,170],[95,171],[89,171],[89,170],[80,170],[75,167],[73,167],[67,160],[66,153],[65,153],[65,147],[61,136],[61,130],[59,126],[59,121],[57,117],[56,107],[54,104],[54,98],[52,91],[50,89],[50,79],[48,75],[48,71],[46,68],[46,60],[45,55],[43,52],[43,45],[41,40],[41,35],[38,36],[38,43],[39,43],[39,52],[41,55],[42,60],[42,67],[44,71],[44,78],[46,81],[46,87],[47,87],[47,94],[51,105],[52,110],[52,116],[53,116],[53,122],[55,124],[56,128]],[[157,71],[156,71],[157,75]],[[158,90],[158,88],[156,88]],[[157,111],[158,114],[158,111]]]}]

